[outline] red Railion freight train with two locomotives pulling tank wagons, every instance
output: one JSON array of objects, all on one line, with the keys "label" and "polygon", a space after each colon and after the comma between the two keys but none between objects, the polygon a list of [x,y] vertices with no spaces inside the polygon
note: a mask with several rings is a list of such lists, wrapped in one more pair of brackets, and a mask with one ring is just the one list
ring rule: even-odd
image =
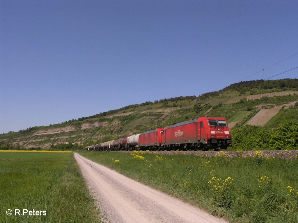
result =
[{"label": "red Railion freight train with two locomotives pulling tank wagons", "polygon": [[114,139],[86,150],[221,150],[232,145],[226,118],[199,117],[191,121]]}]

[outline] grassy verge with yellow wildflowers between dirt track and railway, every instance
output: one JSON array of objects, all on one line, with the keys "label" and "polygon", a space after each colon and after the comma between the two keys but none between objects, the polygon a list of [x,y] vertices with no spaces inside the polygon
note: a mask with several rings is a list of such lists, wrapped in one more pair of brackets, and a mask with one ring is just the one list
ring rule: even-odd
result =
[{"label": "grassy verge with yellow wildflowers between dirt track and railway", "polygon": [[79,153],[231,222],[298,220],[297,158]]}]

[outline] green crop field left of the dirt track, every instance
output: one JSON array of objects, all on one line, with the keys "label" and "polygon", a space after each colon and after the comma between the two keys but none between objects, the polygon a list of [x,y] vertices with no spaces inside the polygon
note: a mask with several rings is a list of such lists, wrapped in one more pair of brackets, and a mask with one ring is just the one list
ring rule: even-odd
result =
[{"label": "green crop field left of the dirt track", "polygon": [[0,153],[0,222],[100,222],[94,206],[73,153]]}]

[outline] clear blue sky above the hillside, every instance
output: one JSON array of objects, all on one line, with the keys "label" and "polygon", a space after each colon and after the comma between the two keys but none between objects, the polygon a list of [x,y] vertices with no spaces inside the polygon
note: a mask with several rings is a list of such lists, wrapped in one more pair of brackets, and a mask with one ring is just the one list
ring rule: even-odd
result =
[{"label": "clear blue sky above the hillside", "polygon": [[[222,89],[298,52],[297,11],[298,1],[1,0],[0,133]],[[298,54],[244,81],[297,66]]]}]

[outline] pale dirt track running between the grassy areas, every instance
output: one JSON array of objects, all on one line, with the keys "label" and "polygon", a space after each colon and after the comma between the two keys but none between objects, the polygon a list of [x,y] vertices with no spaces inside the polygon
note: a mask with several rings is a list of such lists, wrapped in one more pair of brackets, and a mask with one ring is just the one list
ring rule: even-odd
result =
[{"label": "pale dirt track running between the grassy areas", "polygon": [[108,222],[227,222],[77,153],[75,159]]}]

